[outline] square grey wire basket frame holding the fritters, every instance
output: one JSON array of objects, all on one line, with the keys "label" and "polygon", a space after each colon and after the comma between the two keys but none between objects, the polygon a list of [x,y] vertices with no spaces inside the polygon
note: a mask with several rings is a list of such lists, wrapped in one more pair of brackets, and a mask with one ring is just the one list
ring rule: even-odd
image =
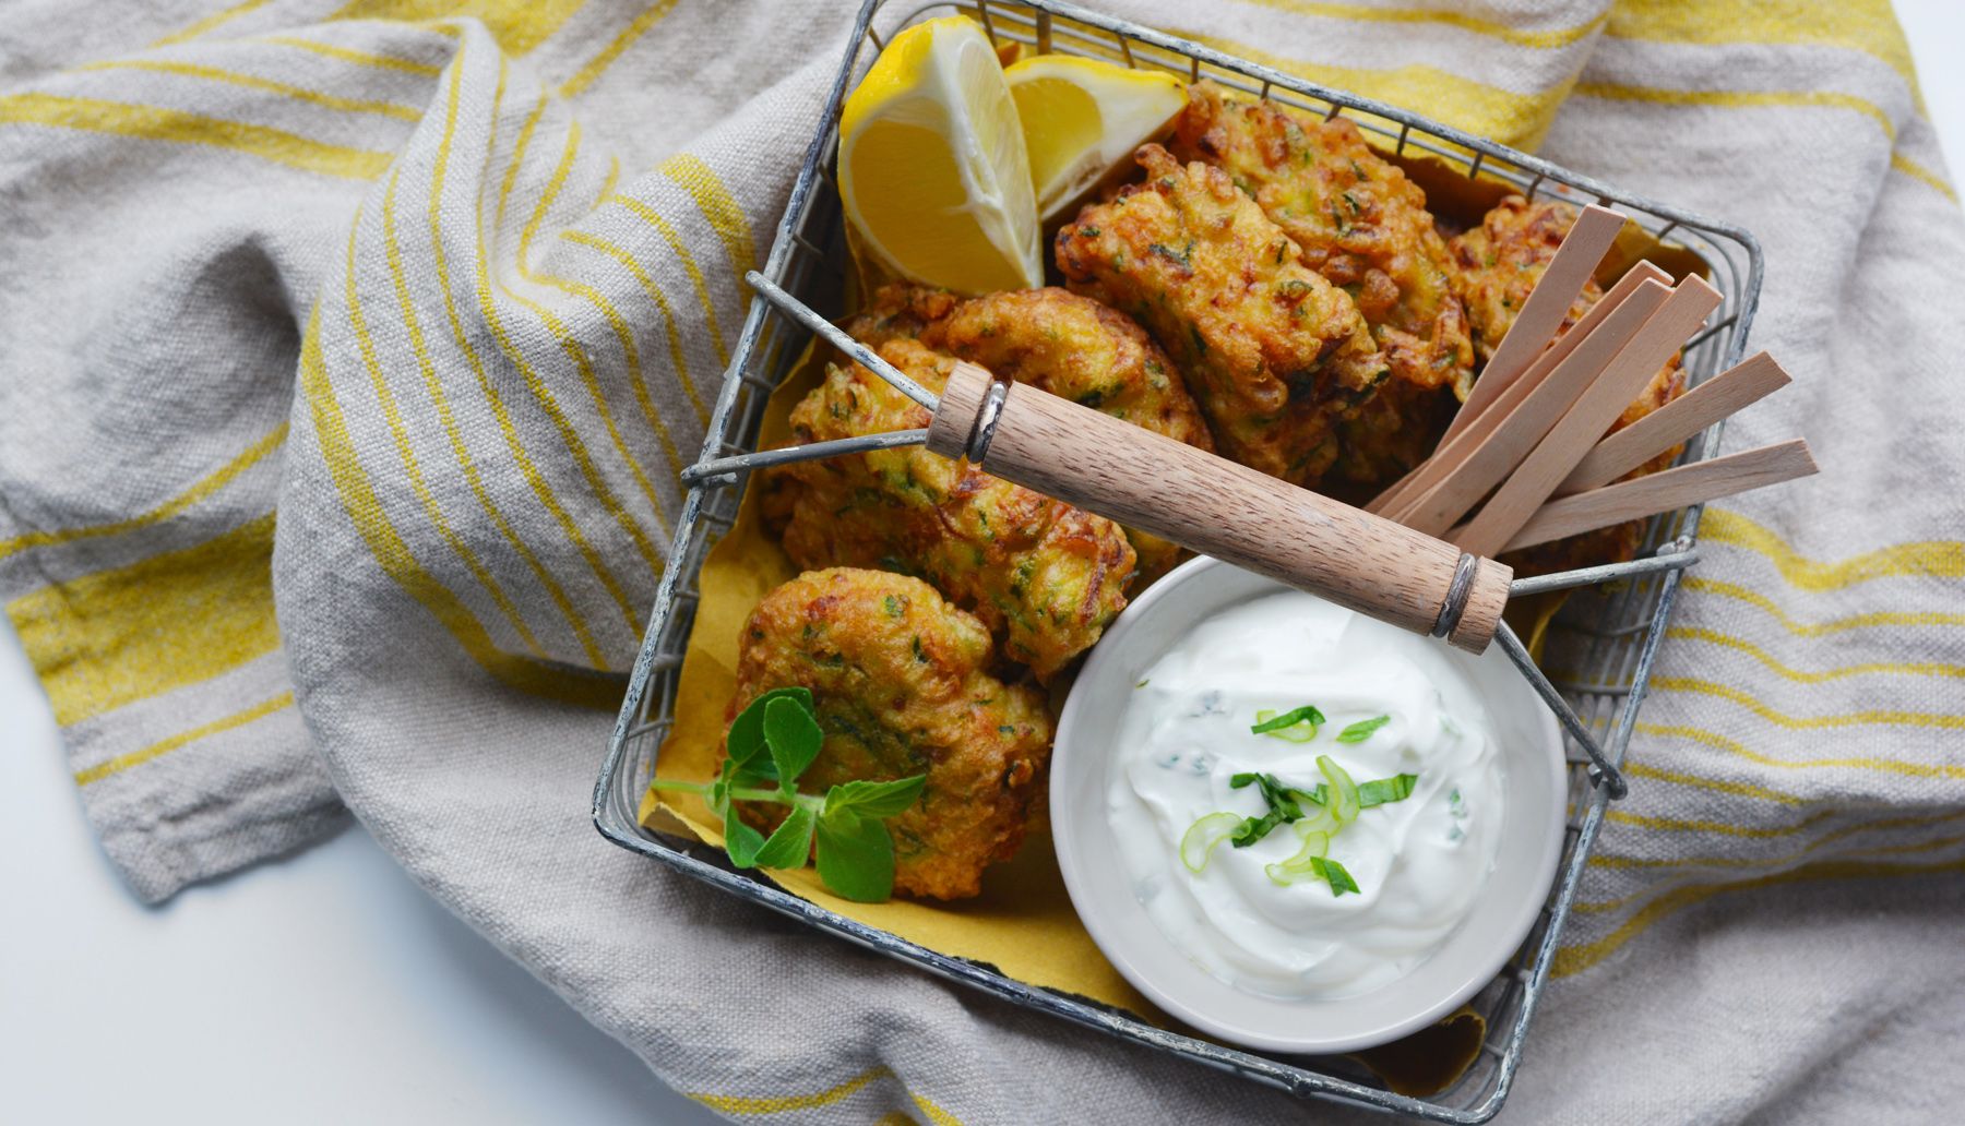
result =
[{"label": "square grey wire basket frame holding the fritters", "polygon": [[[770,259],[762,271],[764,277],[819,312],[829,316],[843,312],[839,299],[847,289],[845,279],[851,269],[839,197],[833,187],[841,102],[888,35],[924,16],[939,16],[949,10],[977,18],[998,43],[1016,41],[1038,51],[1161,69],[1185,79],[1214,79],[1224,86],[1307,112],[1344,114],[1381,149],[1425,153],[1454,169],[1464,169],[1468,177],[1489,177],[1511,185],[1531,198],[1615,206],[1660,242],[1670,240],[1704,259],[1710,281],[1723,297],[1712,324],[1686,346],[1688,379],[1694,383],[1706,379],[1739,362],[1745,352],[1763,269],[1761,248],[1745,230],[1613,189],[1527,153],[1429,122],[1419,114],[1305,83],[1175,35],[1055,0],[918,6],[906,0],[865,0],[845,59],[814,122],[815,132],[806,149],[804,167],[792,187]],[[760,299],[751,303],[743,336],[717,395],[702,462],[755,448],[764,401],[790,373],[806,340],[810,340],[810,332],[768,303]],[[1688,446],[1684,460],[1710,456],[1717,444],[1719,426],[1713,426]],[[721,849],[656,833],[637,823],[637,806],[654,776],[656,753],[674,719],[682,652],[700,597],[698,572],[709,544],[735,521],[741,495],[741,476],[735,481],[729,476],[715,476],[696,483],[688,493],[676,523],[670,566],[656,591],[648,633],[635,660],[627,700],[607,747],[607,760],[593,788],[593,823],[603,837],[705,884],[1012,1004],[1036,1008],[1169,1055],[1234,1071],[1299,1097],[1360,1104],[1436,1122],[1486,1122],[1499,1112],[1521,1063],[1529,1018],[1548,981],[1552,955],[1584,863],[1601,827],[1605,806],[1613,800],[1613,786],[1603,784],[1601,772],[1590,770],[1574,737],[1568,741],[1572,762],[1570,823],[1556,886],[1535,929],[1507,969],[1472,1000],[1472,1006],[1488,1022],[1488,1040],[1480,1057],[1452,1087],[1429,1098],[1415,1098],[1387,1091],[1352,1059],[1275,1057],[1167,1032],[1132,1014],[1030,986],[992,967],[947,957],[843,918],[780,890],[755,873],[731,869]],[[1566,670],[1554,678],[1554,684],[1590,729],[1601,755],[1613,764],[1611,780],[1617,780],[1615,764],[1623,760],[1625,745],[1637,723],[1651,664],[1678,588],[1680,568],[1696,556],[1698,519],[1698,507],[1653,519],[1639,562],[1623,568],[1601,568],[1613,572],[1613,582],[1596,586],[1588,593],[1578,591],[1578,597],[1570,599],[1550,631],[1544,664]],[[1645,570],[1645,556],[1660,552],[1660,548],[1670,552],[1676,562],[1664,568],[1653,564],[1653,570]],[[1550,586],[1566,584],[1552,582]],[[1517,593],[1523,593],[1521,586],[1517,586]]]}]

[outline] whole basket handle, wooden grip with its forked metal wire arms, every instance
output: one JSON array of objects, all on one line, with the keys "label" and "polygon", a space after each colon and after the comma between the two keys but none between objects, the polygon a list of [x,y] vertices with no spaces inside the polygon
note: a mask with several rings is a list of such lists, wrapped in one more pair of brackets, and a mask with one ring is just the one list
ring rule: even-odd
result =
[{"label": "whole basket handle, wooden grip with its forked metal wire arms", "polygon": [[[1623,774],[1548,676],[1537,668],[1515,631],[1501,621],[1501,607],[1515,595],[1680,570],[1698,558],[1690,546],[1680,542],[1651,558],[1515,580],[1507,566],[1470,556],[1444,540],[1036,387],[1000,383],[967,364],[957,364],[943,395],[935,395],[764,275],[753,271],[747,281],[772,309],[823,336],[902,395],[929,409],[933,422],[926,430],[863,434],[705,460],[684,470],[686,483],[733,483],[741,474],[768,466],[914,444],[945,456],[965,456],[1004,479],[1185,548],[1226,558],[1370,617],[1444,637],[1458,648],[1480,652],[1489,639],[1499,641],[1501,652],[1590,759],[1592,782],[1609,798],[1625,796]],[[1081,438],[1059,440],[1061,434]],[[1142,462],[1150,462],[1153,472],[1140,474]],[[1153,481],[1153,493],[1144,493],[1140,481]],[[1183,505],[1183,485],[1208,489],[1207,513]],[[1157,503],[1163,497],[1167,503]],[[1230,519],[1222,519],[1224,513]],[[1250,527],[1238,527],[1232,517],[1242,517],[1242,525],[1254,525],[1254,533]],[[1279,531],[1285,535],[1277,535]]]}]

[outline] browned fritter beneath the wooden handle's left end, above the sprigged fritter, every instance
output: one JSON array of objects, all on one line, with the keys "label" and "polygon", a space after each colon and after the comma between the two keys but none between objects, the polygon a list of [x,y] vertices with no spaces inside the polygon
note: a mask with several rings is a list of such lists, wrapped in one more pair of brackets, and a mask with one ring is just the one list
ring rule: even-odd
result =
[{"label": "browned fritter beneath the wooden handle's left end, above the sprigged fritter", "polygon": [[[890,340],[880,358],[924,387],[953,358]],[[792,440],[927,426],[927,411],[859,364],[833,366],[792,409]],[[916,574],[1002,639],[1004,656],[1049,680],[1126,607],[1134,552],[1118,525],[920,446],[776,470],[774,515],[802,568]]]}]

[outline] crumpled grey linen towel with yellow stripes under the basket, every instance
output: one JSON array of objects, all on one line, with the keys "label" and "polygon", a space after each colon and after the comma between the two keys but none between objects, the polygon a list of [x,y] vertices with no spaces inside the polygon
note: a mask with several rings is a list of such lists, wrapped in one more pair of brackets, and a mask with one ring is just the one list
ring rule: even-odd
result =
[{"label": "crumpled grey linen towel with yellow stripes under the basket", "polygon": [[[1965,220],[1882,0],[1102,0],[1753,230],[1729,446],[1507,1118],[1939,1120],[1965,951]],[[914,6],[878,16],[890,29]],[[815,941],[588,794],[849,4],[0,16],[0,601],[143,898],[352,808],[772,1122],[1328,1118]]]}]

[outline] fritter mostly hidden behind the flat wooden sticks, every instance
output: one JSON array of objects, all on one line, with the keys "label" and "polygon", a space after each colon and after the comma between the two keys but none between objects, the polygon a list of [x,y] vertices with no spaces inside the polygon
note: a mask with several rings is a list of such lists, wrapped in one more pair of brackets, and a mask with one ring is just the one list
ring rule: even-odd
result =
[{"label": "fritter mostly hidden behind the flat wooden sticks", "polygon": [[[1521,197],[1507,197],[1488,212],[1480,226],[1452,240],[1454,259],[1462,271],[1468,318],[1474,324],[1474,344],[1484,362],[1493,356],[1501,338],[1515,324],[1529,291],[1543,279],[1556,248],[1562,246],[1562,236],[1574,224],[1576,208],[1564,202],[1529,202]],[[1598,301],[1603,301],[1603,289],[1596,281],[1584,283],[1582,295],[1562,318],[1562,332],[1582,320]],[[1623,409],[1609,432],[1617,432],[1670,403],[1684,391],[1684,366],[1678,356],[1672,356],[1670,364],[1660,367],[1645,391]],[[1666,450],[1625,474],[1623,479],[1656,474],[1668,468],[1674,458],[1678,458],[1678,450]],[[1503,562],[1523,576],[1621,562],[1637,556],[1643,535],[1645,521],[1631,521],[1513,552],[1503,556]]]}]

